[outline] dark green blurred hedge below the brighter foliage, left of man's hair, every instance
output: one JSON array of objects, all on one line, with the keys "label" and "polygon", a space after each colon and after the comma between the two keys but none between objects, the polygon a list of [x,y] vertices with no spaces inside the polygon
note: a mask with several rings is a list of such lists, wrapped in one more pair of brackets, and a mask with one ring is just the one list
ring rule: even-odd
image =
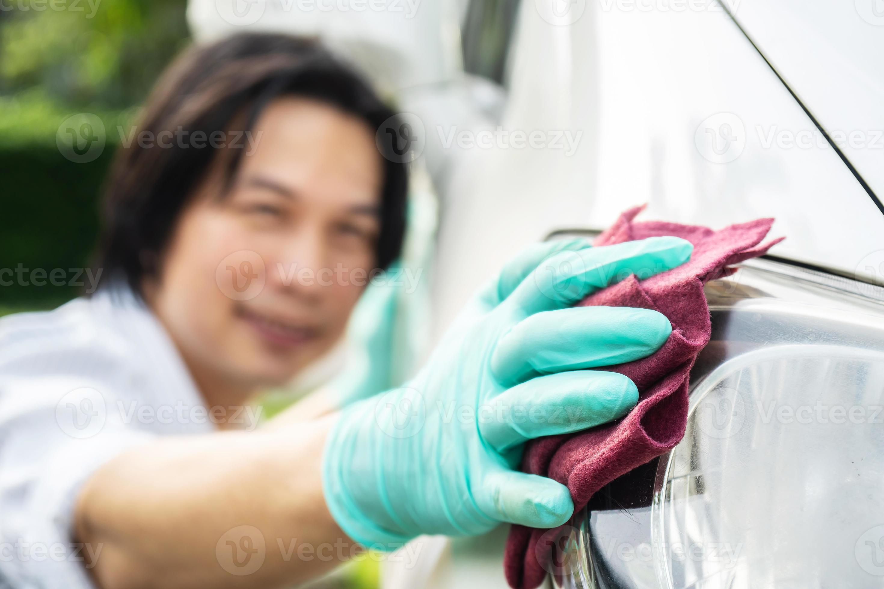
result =
[{"label": "dark green blurred hedge below the brighter foliage, left of man's hair", "polygon": [[[0,274],[0,311],[50,308],[83,290],[70,284],[76,272],[71,269],[88,265],[98,230],[98,198],[113,151],[109,142],[95,161],[74,163],[54,141],[0,142],[0,271],[27,268],[23,280],[18,274]],[[47,276],[34,276],[37,268]],[[55,276],[63,286],[49,281],[55,268],[64,270],[64,278]],[[34,277],[46,284],[35,286]],[[83,276],[80,281],[88,284]]]}]

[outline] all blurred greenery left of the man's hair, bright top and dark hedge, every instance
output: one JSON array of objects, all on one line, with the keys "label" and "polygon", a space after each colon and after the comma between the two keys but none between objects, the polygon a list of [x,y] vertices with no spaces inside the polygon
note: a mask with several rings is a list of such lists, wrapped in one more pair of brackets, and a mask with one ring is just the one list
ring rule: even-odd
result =
[{"label": "all blurred greenery left of the man's hair, bright top and dark hedge", "polygon": [[[0,12],[0,271],[65,270],[65,285],[0,276],[0,313],[50,308],[80,294],[98,230],[104,175],[138,104],[188,42],[186,0],[15,0]],[[101,118],[94,162],[56,145],[77,113]],[[26,283],[23,283],[26,282]],[[42,280],[38,279],[38,282]]]}]

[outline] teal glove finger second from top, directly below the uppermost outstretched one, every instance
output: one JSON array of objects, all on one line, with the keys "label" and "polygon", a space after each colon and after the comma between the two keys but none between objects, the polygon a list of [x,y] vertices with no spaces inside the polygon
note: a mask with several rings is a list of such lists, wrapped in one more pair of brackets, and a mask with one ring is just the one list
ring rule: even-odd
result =
[{"label": "teal glove finger second from top, directly below the uppermost outstretched one", "polygon": [[541,374],[613,366],[659,350],[672,324],[662,313],[625,306],[575,306],[535,313],[494,348],[492,374],[512,386]]}]

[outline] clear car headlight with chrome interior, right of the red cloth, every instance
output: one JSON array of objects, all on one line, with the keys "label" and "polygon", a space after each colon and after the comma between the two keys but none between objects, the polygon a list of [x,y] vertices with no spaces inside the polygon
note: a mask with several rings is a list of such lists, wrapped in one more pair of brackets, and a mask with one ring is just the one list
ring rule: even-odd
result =
[{"label": "clear car headlight with chrome interior, right of the red cloth", "polygon": [[884,583],[882,291],[773,261],[707,285],[684,439],[575,517],[559,585]]}]

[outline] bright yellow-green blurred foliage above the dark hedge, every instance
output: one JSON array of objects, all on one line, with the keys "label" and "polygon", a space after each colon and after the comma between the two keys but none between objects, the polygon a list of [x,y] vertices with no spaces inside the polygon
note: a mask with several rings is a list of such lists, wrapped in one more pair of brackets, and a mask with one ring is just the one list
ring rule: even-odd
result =
[{"label": "bright yellow-green blurred foliage above the dark hedge", "polygon": [[17,0],[5,14],[4,94],[31,87],[73,107],[125,109],[187,42],[184,0]]}]

